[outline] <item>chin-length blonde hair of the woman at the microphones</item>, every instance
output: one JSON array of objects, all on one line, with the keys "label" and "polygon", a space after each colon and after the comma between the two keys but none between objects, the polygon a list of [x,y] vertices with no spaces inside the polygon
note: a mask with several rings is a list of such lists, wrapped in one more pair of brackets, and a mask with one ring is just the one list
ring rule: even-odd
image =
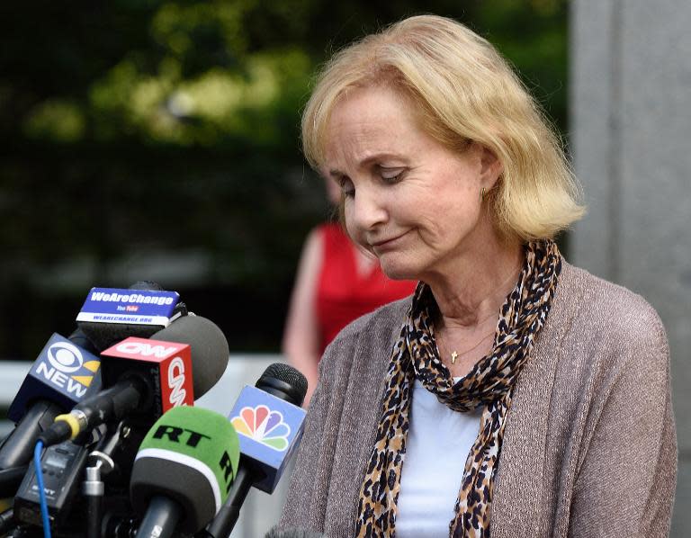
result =
[{"label": "chin-length blonde hair of the woman at the microphones", "polygon": [[322,68],[302,114],[302,147],[324,166],[328,121],[349,90],[390,85],[414,104],[423,129],[447,148],[469,141],[503,166],[489,193],[507,237],[552,238],[585,212],[560,139],[507,61],[459,22],[410,17],[343,49]]}]

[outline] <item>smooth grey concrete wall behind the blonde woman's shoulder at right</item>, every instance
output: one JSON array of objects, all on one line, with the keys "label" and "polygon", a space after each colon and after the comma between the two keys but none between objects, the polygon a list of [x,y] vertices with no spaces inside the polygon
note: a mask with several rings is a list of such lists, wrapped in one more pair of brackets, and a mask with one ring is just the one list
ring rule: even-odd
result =
[{"label": "smooth grey concrete wall behind the blonde woman's shoulder at right", "polygon": [[574,0],[571,143],[588,216],[570,259],[641,293],[669,336],[672,536],[691,536],[691,2]]}]

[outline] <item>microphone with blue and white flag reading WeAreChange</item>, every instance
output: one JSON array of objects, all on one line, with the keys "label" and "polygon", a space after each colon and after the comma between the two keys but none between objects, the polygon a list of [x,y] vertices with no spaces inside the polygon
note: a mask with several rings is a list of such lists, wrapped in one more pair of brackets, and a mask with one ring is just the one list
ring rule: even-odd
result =
[{"label": "microphone with blue and white flag reading WeAreChange", "polygon": [[164,291],[156,282],[135,282],[129,289],[92,288],[76,324],[98,351],[128,336],[148,338],[187,315],[176,291]]}]

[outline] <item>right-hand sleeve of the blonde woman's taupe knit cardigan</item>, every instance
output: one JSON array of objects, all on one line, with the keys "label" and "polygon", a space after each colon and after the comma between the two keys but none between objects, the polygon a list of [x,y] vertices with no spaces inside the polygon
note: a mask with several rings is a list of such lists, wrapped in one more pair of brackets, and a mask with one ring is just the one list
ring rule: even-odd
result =
[{"label": "right-hand sleeve of the blonde woman's taupe knit cardigan", "polygon": [[603,367],[572,498],[574,538],[669,535],[677,475],[669,347],[660,318],[645,307],[634,323],[624,315],[619,356]]}]

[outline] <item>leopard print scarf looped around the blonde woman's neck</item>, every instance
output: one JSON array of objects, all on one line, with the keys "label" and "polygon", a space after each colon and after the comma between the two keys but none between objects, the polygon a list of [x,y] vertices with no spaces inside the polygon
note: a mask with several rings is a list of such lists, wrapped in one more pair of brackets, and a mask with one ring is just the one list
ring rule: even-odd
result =
[{"label": "leopard print scarf looped around the blonde woman's neck", "polygon": [[434,297],[420,282],[391,353],[377,440],[360,489],[356,536],[395,536],[400,471],[406,454],[412,386],[417,378],[455,411],[483,407],[480,433],[465,462],[449,536],[489,538],[494,478],[511,392],[550,311],[560,272],[561,254],[552,240],[526,245],[525,265],[516,288],[502,306],[492,352],[455,384],[435,344]]}]

